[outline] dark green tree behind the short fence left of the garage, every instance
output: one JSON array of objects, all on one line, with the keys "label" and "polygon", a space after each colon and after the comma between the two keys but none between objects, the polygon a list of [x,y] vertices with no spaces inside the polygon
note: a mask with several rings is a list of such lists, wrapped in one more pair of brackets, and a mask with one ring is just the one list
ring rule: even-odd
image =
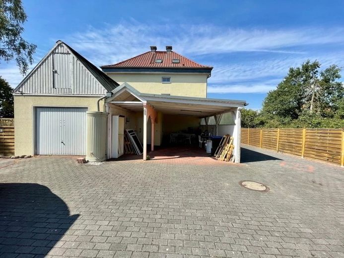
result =
[{"label": "dark green tree behind the short fence left of the garage", "polygon": [[0,118],[13,118],[13,95],[8,82],[0,76]]}]

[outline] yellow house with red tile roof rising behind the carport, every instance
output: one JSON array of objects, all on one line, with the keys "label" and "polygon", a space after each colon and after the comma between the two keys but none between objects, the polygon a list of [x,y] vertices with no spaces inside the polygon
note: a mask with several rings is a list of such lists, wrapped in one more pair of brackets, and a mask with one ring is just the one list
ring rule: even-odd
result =
[{"label": "yellow house with red tile roof rising behind the carport", "polygon": [[166,51],[150,51],[114,65],[101,66],[119,84],[129,83],[141,93],[206,98],[211,66],[200,65],[166,46]]}]

